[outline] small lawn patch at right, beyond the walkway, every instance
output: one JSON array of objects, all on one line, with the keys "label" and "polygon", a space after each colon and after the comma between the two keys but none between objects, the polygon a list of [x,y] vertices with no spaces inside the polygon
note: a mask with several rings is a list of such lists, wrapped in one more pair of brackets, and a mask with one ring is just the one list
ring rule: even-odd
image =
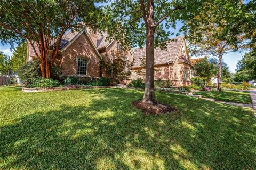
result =
[{"label": "small lawn patch at right, beyond the walkway", "polygon": [[212,98],[218,101],[252,104],[250,93],[244,92],[244,91],[232,91],[232,90],[224,90],[222,92],[201,91],[201,92],[194,92],[193,94],[202,95],[205,98]]}]

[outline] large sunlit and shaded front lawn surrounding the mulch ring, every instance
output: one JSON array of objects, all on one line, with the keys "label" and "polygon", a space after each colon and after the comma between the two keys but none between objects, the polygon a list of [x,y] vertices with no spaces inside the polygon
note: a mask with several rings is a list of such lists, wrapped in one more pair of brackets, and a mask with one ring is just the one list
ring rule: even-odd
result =
[{"label": "large sunlit and shaded front lawn surrounding the mulch ring", "polygon": [[0,169],[256,169],[253,110],[156,92],[145,115],[123,89],[0,88]]}]

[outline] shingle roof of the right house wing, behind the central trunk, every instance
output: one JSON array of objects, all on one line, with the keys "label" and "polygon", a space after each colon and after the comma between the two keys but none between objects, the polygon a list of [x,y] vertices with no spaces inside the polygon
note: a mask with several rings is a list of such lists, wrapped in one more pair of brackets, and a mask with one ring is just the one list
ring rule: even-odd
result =
[{"label": "shingle roof of the right house wing, behind the central trunk", "polygon": [[[154,50],[154,64],[173,63],[179,52],[183,38],[183,36],[172,38],[172,41],[167,44],[166,50],[161,50],[161,48],[157,47]],[[146,47],[137,48],[134,52],[133,68],[142,67],[146,58]]]}]

